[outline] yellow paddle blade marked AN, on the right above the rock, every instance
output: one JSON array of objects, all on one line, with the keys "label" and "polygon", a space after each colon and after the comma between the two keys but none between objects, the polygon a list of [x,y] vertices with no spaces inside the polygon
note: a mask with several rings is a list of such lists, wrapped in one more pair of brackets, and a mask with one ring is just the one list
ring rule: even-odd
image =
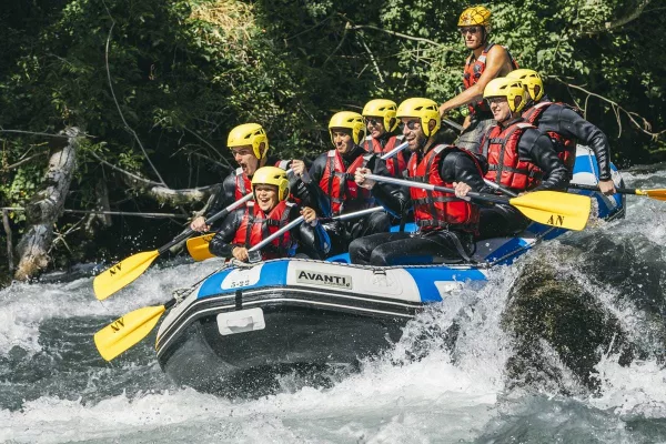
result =
[{"label": "yellow paddle blade marked AN, on the right above the rock", "polygon": [[557,191],[535,191],[508,202],[535,222],[567,230],[583,230],[592,209],[589,196]]}]

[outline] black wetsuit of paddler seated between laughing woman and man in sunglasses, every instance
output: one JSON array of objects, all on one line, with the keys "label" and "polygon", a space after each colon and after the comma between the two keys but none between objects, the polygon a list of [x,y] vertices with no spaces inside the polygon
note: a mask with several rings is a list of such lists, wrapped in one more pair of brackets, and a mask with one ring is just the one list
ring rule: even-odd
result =
[{"label": "black wetsuit of paddler seated between laughing woman and man in sunglasses", "polygon": [[[360,145],[355,145],[349,153],[341,155],[345,170],[349,169],[350,165],[360,155],[366,157],[365,168],[369,168],[373,174],[387,176],[391,175],[389,173],[389,169],[386,168],[386,163],[382,159],[380,159],[380,157],[377,157],[376,154],[369,154]],[[324,172],[326,171],[327,163],[329,153],[322,153],[314,160],[314,162],[312,162],[312,167],[310,168],[309,172],[312,181],[311,184],[317,185],[316,190],[320,194],[320,198],[317,200],[326,202],[324,204],[326,205],[326,209],[322,210],[322,214],[324,215],[332,214],[333,208],[330,196],[327,195],[327,190],[322,190],[319,186],[319,183],[321,182],[322,178],[324,176]],[[353,176],[351,179],[353,180]],[[386,189],[397,190],[398,186],[386,184]],[[359,194],[361,195],[361,193]],[[367,202],[364,199],[347,199],[344,202],[342,214],[364,210],[365,208],[367,208]],[[356,220],[326,223],[324,224],[324,228],[331,236],[331,242],[333,244],[331,249],[331,255],[334,255],[346,252],[349,243],[354,239],[374,233],[387,232],[391,229],[391,219],[386,213],[379,211],[364,218],[359,218]]]}]

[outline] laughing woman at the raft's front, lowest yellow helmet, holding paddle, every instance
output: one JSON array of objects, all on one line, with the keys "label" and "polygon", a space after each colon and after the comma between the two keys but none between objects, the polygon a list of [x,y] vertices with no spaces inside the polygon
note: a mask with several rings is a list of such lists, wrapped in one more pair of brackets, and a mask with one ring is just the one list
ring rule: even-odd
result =
[{"label": "laughing woman at the raft's front, lowest yellow helmet, holding paddle", "polygon": [[304,222],[264,246],[262,260],[293,256],[299,246],[305,255],[323,259],[331,241],[312,208],[299,209],[287,200],[289,181],[284,170],[276,167],[258,169],[252,176],[252,193],[254,199],[244,209],[236,210],[222,222],[209,244],[212,254],[246,262],[248,250],[301,214]]}]

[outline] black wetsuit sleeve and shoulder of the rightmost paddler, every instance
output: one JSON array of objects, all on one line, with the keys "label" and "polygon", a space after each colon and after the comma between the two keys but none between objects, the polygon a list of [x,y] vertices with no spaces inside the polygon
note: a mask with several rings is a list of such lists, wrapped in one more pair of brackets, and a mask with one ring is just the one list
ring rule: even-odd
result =
[{"label": "black wetsuit sleeve and shoulder of the rightmost paddler", "polygon": [[[549,100],[547,100],[549,101]],[[527,111],[523,111],[525,113]],[[542,132],[553,131],[566,139],[589,147],[599,165],[599,180],[610,180],[610,147],[608,139],[596,125],[583,119],[569,107],[548,105],[533,123]]]}]

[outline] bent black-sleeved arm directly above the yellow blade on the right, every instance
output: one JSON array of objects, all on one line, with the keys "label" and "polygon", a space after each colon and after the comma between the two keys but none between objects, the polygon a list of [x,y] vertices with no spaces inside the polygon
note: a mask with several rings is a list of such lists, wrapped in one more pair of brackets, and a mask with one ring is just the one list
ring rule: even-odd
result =
[{"label": "bent black-sleeved arm directly above the yellow blade on the right", "polygon": [[525,130],[518,142],[521,159],[533,162],[544,173],[538,186],[529,191],[563,190],[568,184],[568,172],[555,152],[551,138],[535,128]]}]

